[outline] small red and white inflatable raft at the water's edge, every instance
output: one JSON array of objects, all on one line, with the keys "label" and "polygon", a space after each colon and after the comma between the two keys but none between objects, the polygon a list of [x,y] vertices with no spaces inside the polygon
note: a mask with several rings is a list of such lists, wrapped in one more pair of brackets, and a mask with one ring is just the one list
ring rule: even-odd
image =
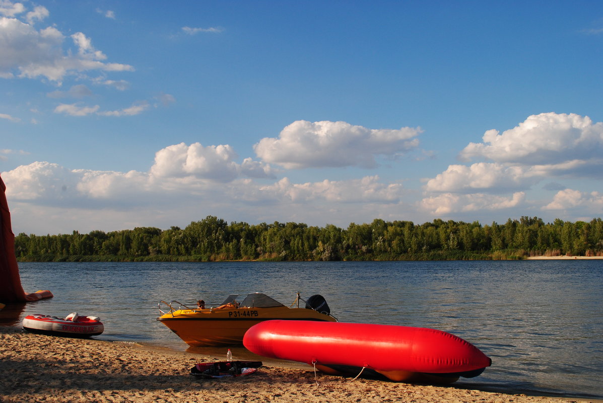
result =
[{"label": "small red and white inflatable raft at the water's edge", "polygon": [[25,316],[23,329],[54,336],[90,337],[103,333],[105,326],[96,316],[80,316],[74,312],[68,314],[65,319],[40,314]]}]

